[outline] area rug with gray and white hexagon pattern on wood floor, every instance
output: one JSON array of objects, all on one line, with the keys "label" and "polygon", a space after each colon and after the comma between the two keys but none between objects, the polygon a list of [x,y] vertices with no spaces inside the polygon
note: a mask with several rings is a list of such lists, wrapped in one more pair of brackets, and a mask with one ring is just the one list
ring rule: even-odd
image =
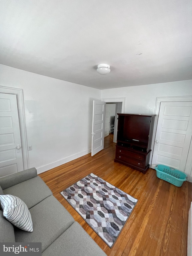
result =
[{"label": "area rug with gray and white hexagon pattern on wood floor", "polygon": [[137,203],[93,173],[60,193],[110,248]]}]

